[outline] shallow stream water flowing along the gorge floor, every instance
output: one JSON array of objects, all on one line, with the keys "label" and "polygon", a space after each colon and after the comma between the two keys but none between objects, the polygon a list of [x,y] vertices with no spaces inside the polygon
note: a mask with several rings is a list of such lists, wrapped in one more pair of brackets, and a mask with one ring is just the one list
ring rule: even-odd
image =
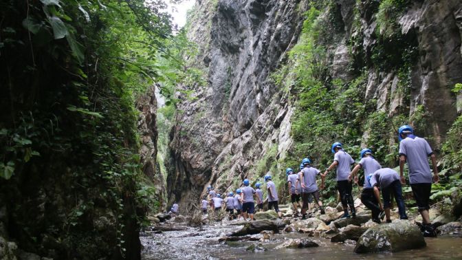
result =
[{"label": "shallow stream water flowing along the gorge floor", "polygon": [[[188,228],[155,234],[142,232],[140,239],[144,249],[142,259],[462,259],[462,238],[443,236],[426,239],[426,248],[396,253],[356,254],[354,245],[331,243],[320,237],[307,237],[300,233],[271,235],[266,241],[219,242],[219,237],[239,230],[242,226],[230,226],[229,222],[215,226]],[[189,237],[188,237],[189,236]],[[275,249],[290,238],[309,238],[317,248]],[[248,246],[259,245],[265,251],[247,251]]]}]

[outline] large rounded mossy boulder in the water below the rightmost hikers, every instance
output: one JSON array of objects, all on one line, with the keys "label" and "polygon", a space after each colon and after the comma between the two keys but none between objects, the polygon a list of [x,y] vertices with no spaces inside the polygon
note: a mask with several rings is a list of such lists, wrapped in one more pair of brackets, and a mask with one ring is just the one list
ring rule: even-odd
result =
[{"label": "large rounded mossy boulder in the water below the rightmost hikers", "polygon": [[358,239],[355,252],[398,252],[425,246],[419,227],[407,220],[397,220],[366,230]]}]

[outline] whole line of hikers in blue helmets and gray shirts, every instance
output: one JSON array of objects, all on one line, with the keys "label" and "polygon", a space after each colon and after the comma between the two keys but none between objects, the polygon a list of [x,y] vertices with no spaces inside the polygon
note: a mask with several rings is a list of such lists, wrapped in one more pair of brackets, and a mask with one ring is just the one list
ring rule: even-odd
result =
[{"label": "whole line of hikers in blue helmets and gray shirts", "polygon": [[[417,136],[414,136],[414,130],[408,125],[399,127],[399,175],[396,171],[390,168],[382,168],[382,166],[373,157],[371,149],[362,149],[360,151],[360,162],[353,167],[355,160],[351,155],[344,151],[340,142],[335,142],[331,146],[333,155],[332,164],[324,173],[313,166],[309,158],[304,158],[300,164],[300,171],[294,171],[291,168],[286,169],[287,185],[291,202],[294,205],[294,217],[298,216],[298,207],[301,206],[300,213],[302,219],[311,217],[312,208],[319,208],[321,214],[325,214],[320,199],[320,189],[325,188],[325,177],[329,172],[336,169],[337,190],[340,193],[344,214],[342,218],[355,217],[356,210],[353,202],[353,182],[358,183],[358,171],[364,170],[364,187],[361,193],[361,202],[371,210],[372,220],[381,223],[386,220],[391,222],[391,199],[395,197],[400,219],[408,219],[406,215],[406,207],[402,196],[401,184],[406,184],[404,178],[404,165],[408,164],[408,176],[410,187],[414,195],[415,201],[423,223],[421,232],[426,237],[435,237],[436,232],[430,223],[428,210],[430,209],[430,191],[432,182],[438,182],[438,170],[435,155],[430,148],[428,142]],[[433,168],[433,175],[428,164],[430,157]],[[318,188],[316,177],[320,175],[321,185]],[[274,208],[278,216],[281,217],[281,211],[278,208],[278,193],[272,176],[270,174],[264,177],[267,189],[268,209]],[[201,201],[201,209],[203,213],[207,213],[208,206],[212,207],[215,212],[225,208],[230,213],[231,218],[240,218],[251,220],[254,219],[255,204],[256,208],[263,210],[263,191],[260,183],[255,184],[255,188],[250,186],[250,180],[243,180],[242,188],[236,189],[236,194],[228,193],[228,197],[222,198],[220,194],[214,191],[212,186],[208,186],[208,195],[203,197]],[[380,199],[382,193],[382,199]],[[302,204],[300,205],[300,197]],[[311,206],[311,202],[316,202]],[[383,200],[383,203],[382,203]],[[236,210],[236,213],[234,213]]]}]

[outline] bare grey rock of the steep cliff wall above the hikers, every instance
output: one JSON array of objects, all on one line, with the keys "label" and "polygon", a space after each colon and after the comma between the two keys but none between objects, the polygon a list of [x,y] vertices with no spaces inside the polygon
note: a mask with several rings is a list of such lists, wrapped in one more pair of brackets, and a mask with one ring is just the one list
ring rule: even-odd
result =
[{"label": "bare grey rock of the steep cliff wall above the hikers", "polygon": [[[311,5],[323,6],[323,1],[315,2]],[[377,110],[390,116],[412,115],[423,105],[428,126],[424,131],[439,147],[457,114],[450,87],[462,82],[462,3],[415,1],[396,12],[399,22],[394,25],[377,21],[379,5],[342,0],[322,7],[320,16],[333,14],[331,22],[340,28],[326,36],[331,39],[325,43],[329,77],[348,82],[354,68],[365,69],[362,95],[376,98]],[[273,163],[265,159],[268,153],[277,159],[285,156],[296,107],[287,102],[290,89],[274,85],[270,75],[296,45],[309,8],[309,1],[294,0],[197,1],[188,36],[199,45],[199,54],[190,61],[206,72],[207,83],[181,86],[195,92],[189,98],[179,94],[181,113],[170,133],[175,164],[167,180],[170,201],[192,208],[186,202],[196,201],[206,185],[223,192],[239,186],[245,176],[261,177],[261,169]],[[401,32],[383,43],[375,33],[377,26],[384,34],[389,28]],[[413,55],[406,71],[410,93],[397,89],[403,70],[393,66],[388,55],[395,52]],[[384,65],[377,56],[385,57]]]}]

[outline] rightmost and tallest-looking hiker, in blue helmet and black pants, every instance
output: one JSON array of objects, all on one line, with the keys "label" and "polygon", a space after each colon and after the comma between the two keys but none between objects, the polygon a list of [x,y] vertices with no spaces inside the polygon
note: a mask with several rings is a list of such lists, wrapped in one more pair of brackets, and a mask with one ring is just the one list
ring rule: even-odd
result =
[{"label": "rightmost and tallest-looking hiker, in blue helmet and black pants", "polygon": [[[404,180],[404,164],[408,163],[409,183],[412,188],[419,213],[422,216],[421,231],[424,237],[436,237],[437,232],[430,222],[428,210],[430,210],[430,192],[432,181],[439,182],[437,158],[434,155],[430,144],[417,136],[414,136],[414,129],[408,125],[403,125],[398,129],[399,139],[399,176],[401,184]],[[433,176],[428,165],[428,157],[432,161]]]}]

